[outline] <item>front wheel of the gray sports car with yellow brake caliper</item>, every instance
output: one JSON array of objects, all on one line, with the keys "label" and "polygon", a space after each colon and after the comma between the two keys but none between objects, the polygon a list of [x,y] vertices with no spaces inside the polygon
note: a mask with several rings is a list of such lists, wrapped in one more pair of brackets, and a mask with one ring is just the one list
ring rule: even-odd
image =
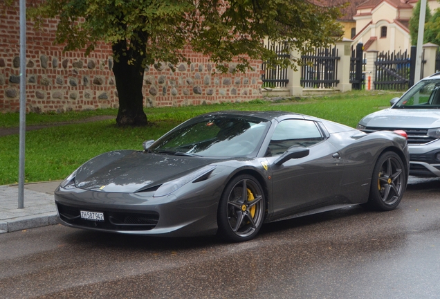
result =
[{"label": "front wheel of the gray sports car with yellow brake caliper", "polygon": [[253,239],[264,222],[266,198],[255,177],[236,176],[223,190],[217,212],[219,235],[228,242]]}]

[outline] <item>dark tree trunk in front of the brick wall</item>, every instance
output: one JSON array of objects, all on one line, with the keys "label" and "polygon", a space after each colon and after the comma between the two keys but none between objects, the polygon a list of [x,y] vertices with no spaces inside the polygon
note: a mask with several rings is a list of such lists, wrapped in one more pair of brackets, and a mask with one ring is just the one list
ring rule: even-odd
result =
[{"label": "dark tree trunk in front of the brick wall", "polygon": [[[143,57],[137,51],[128,49],[125,41],[113,44],[113,73],[118,90],[119,110],[116,117],[118,125],[147,125],[147,115],[143,107]],[[145,47],[143,48],[145,52]],[[122,55],[127,54],[127,55]]]}]

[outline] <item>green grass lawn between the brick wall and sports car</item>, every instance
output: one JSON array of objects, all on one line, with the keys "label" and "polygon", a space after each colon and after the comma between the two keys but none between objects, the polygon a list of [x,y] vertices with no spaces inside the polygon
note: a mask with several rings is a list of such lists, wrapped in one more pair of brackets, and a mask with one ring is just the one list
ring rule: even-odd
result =
[{"label": "green grass lawn between the brick wall and sports car", "polygon": [[[178,123],[193,116],[219,110],[282,110],[326,118],[356,127],[363,116],[389,107],[389,100],[402,93],[351,91],[331,96],[283,101],[254,100],[248,103],[190,107],[148,108],[147,127],[118,127],[115,120],[58,125],[26,133],[26,181],[64,179],[93,156],[113,149],[142,149],[145,140],[157,139]],[[47,125],[112,115],[116,109],[68,112],[66,114],[28,114],[26,125]],[[17,127],[19,114],[0,114],[0,127]],[[19,136],[0,137],[0,185],[16,183],[19,163]]]}]

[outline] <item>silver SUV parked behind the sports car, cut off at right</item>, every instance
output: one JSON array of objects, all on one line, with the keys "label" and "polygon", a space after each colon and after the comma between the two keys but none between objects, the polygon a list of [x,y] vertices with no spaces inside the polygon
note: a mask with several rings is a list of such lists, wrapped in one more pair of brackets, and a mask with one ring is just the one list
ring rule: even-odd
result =
[{"label": "silver SUV parked behind the sports car, cut off at right", "polygon": [[405,131],[410,175],[440,176],[440,73],[417,82],[390,102],[391,108],[365,116],[357,128],[366,133]]}]

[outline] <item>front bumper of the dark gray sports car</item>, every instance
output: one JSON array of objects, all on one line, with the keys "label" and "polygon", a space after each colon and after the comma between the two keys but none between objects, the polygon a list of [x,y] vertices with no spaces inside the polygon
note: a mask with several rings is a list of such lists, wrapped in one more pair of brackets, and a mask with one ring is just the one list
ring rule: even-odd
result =
[{"label": "front bumper of the dark gray sports car", "polygon": [[[131,235],[187,237],[217,232],[214,197],[154,198],[149,192],[110,193],[73,188],[55,191],[57,221],[65,226]],[[81,211],[103,213],[104,221],[83,219]]]}]

